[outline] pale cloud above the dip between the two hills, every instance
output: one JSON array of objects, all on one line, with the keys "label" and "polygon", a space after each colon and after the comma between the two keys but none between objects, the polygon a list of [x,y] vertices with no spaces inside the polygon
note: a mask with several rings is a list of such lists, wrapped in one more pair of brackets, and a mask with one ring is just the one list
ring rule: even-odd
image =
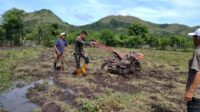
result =
[{"label": "pale cloud above the dip between the two hills", "polygon": [[[84,25],[97,21],[98,19],[108,16],[110,12],[117,8],[118,5],[107,4],[100,0],[85,0],[81,4],[72,6],[70,10],[71,14],[74,15],[74,19],[78,19],[76,25]],[[75,21],[75,20],[73,20]]]}]

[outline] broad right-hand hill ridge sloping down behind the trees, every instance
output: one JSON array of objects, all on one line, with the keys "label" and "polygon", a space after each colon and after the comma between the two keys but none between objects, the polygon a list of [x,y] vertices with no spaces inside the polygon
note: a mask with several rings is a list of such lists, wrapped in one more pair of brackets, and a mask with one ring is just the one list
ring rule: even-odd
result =
[{"label": "broad right-hand hill ridge sloping down behind the trees", "polygon": [[112,29],[114,32],[123,33],[131,24],[143,24],[149,28],[153,34],[180,34],[186,35],[193,31],[196,27],[189,27],[181,24],[155,24],[148,21],[141,20],[133,16],[107,16],[99,21],[81,26],[87,30],[101,30],[104,28]]}]

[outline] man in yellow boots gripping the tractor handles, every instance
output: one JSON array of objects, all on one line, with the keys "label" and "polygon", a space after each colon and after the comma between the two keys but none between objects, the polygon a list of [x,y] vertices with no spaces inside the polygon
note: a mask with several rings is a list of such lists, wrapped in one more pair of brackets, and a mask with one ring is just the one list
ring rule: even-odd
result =
[{"label": "man in yellow boots gripping the tractor handles", "polygon": [[[91,42],[87,42],[85,41],[86,37],[87,37],[87,32],[86,31],[82,31],[78,37],[76,38],[75,42],[74,42],[74,58],[75,58],[75,62],[76,62],[76,71],[74,72],[75,75],[78,76],[82,76],[82,74],[86,74],[86,68],[87,65],[89,63],[89,58],[88,56],[85,55],[84,50],[83,50],[83,46],[92,46],[94,44],[96,44],[96,42],[91,41]],[[81,67],[80,65],[80,60],[81,58],[83,58],[85,60],[85,63],[83,64],[83,66]]]}]

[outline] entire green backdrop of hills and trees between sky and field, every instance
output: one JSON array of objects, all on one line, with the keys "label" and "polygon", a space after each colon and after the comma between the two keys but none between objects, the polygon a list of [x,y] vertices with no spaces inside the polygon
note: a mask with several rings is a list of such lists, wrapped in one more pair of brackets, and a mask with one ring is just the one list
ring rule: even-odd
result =
[{"label": "entire green backdrop of hills and trees between sky and field", "polygon": [[26,13],[16,8],[6,11],[0,26],[1,45],[52,46],[61,32],[74,42],[81,30],[89,32],[88,40],[98,40],[113,47],[153,48],[188,51],[193,47],[187,33],[196,27],[179,24],[154,24],[131,16],[108,16],[96,23],[76,27],[64,23],[52,11],[42,9]]}]

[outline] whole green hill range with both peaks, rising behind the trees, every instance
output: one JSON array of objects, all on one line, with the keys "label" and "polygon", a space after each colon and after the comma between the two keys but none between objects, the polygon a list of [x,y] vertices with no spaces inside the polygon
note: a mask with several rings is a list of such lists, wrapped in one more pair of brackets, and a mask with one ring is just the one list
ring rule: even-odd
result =
[{"label": "whole green hill range with both peaks, rising behind the trees", "polygon": [[92,24],[83,26],[73,26],[61,20],[51,10],[41,9],[31,13],[26,13],[24,17],[24,23],[26,29],[33,29],[37,24],[41,22],[45,24],[58,24],[60,28],[65,30],[80,30],[84,29],[87,31],[101,31],[102,29],[108,28],[115,33],[126,34],[127,28],[131,24],[143,24],[145,25],[152,34],[178,34],[187,35],[188,32],[194,31],[197,27],[189,27],[182,24],[156,24],[148,21],[144,21],[134,16],[107,16]]}]

